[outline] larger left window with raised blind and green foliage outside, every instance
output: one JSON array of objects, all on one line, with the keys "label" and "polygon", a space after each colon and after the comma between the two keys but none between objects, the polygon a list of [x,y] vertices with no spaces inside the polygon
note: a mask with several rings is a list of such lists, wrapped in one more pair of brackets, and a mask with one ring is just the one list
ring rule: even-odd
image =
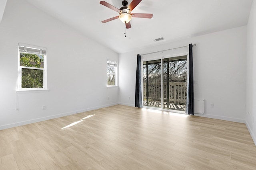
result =
[{"label": "larger left window with raised blind and green foliage outside", "polygon": [[18,47],[18,90],[46,89],[46,48],[21,43]]}]

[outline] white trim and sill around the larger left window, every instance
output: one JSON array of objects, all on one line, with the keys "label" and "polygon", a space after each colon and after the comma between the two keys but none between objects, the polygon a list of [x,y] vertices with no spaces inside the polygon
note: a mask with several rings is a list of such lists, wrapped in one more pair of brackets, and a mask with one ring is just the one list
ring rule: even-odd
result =
[{"label": "white trim and sill around the larger left window", "polygon": [[[17,84],[17,90],[16,93],[22,93],[22,92],[48,92],[49,90],[47,89],[47,57],[44,55],[44,68],[37,68],[37,67],[27,67],[27,66],[20,66],[20,50],[19,46],[25,46],[25,47],[31,47],[35,49],[41,49],[45,50],[45,47],[39,47],[35,45],[29,45],[29,44],[23,44],[23,43],[18,43],[18,84]],[[33,53],[30,53],[33,54]],[[44,70],[43,71],[43,88],[22,88],[21,83],[22,83],[22,68],[28,68],[28,69],[36,69],[36,70]]]}]

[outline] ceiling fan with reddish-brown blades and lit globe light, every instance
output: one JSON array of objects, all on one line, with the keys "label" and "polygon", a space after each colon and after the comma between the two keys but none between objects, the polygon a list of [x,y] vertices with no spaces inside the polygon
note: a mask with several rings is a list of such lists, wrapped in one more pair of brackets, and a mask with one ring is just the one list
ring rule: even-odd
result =
[{"label": "ceiling fan with reddish-brown blades and lit globe light", "polygon": [[105,1],[100,1],[100,4],[116,11],[119,13],[119,16],[115,16],[113,18],[109,18],[108,20],[101,21],[102,23],[106,23],[108,21],[116,20],[119,18],[123,23],[125,23],[126,28],[130,28],[131,23],[130,20],[132,20],[132,17],[136,18],[152,18],[153,14],[142,14],[142,13],[132,13],[132,10],[140,3],[142,0],[133,0],[129,6],[127,6],[128,2],[124,0],[122,2],[123,7],[120,9],[108,4]]}]

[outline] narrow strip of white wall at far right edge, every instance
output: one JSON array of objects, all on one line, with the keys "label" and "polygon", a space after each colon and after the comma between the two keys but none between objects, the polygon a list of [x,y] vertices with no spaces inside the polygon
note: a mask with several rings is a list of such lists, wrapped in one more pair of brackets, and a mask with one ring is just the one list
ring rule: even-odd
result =
[{"label": "narrow strip of white wall at far right edge", "polygon": [[247,25],[246,125],[256,144],[256,2]]}]

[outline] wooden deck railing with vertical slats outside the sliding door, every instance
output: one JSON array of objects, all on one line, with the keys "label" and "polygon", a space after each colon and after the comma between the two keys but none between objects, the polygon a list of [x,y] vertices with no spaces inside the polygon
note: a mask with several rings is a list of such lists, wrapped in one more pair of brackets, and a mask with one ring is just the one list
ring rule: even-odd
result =
[{"label": "wooden deck railing with vertical slats outside the sliding door", "polygon": [[[143,83],[144,100],[146,100],[146,82]],[[186,82],[169,82],[169,102],[174,104],[186,103],[187,86]],[[163,84],[164,102],[168,101],[168,83]],[[148,99],[161,101],[161,83],[148,84]]]}]

